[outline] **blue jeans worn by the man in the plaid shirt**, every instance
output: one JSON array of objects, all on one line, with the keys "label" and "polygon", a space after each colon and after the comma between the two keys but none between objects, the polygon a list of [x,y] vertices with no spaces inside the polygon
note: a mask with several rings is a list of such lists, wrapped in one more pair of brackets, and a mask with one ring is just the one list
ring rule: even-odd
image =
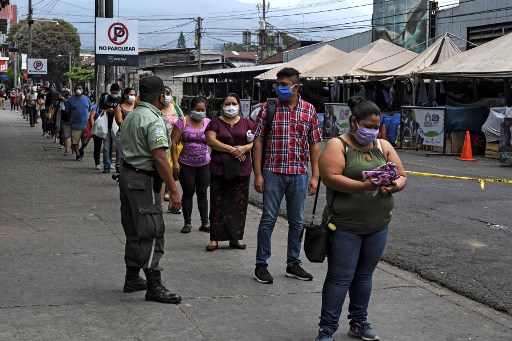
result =
[{"label": "blue jeans worn by the man in the plaid shirt", "polygon": [[304,221],[304,203],[308,189],[307,174],[279,174],[263,171],[263,214],[258,227],[256,265],[267,264],[271,255],[272,231],[279,215],[283,196],[288,215],[288,251],[286,263],[300,263],[300,238]]}]

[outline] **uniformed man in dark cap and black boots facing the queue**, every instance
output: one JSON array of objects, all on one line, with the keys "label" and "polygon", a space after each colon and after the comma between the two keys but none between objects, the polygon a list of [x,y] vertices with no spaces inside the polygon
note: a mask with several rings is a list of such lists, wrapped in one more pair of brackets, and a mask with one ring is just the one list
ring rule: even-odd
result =
[{"label": "uniformed man in dark cap and black boots facing the queue", "polygon": [[[121,223],[126,235],[124,292],[146,291],[147,301],[178,304],[181,296],[161,281],[165,225],[160,191],[169,186],[174,207],[181,206],[166,149],[169,148],[161,110],[164,83],[148,76],[139,83],[140,103],[123,121],[124,161],[119,178]],[[139,276],[144,270],[146,281]]]}]

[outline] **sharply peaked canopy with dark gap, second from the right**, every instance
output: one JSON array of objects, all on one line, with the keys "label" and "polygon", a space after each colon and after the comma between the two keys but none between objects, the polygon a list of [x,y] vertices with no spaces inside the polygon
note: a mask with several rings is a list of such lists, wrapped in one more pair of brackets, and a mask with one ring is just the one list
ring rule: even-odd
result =
[{"label": "sharply peaked canopy with dark gap, second from the right", "polygon": [[431,65],[441,63],[459,53],[461,53],[460,49],[450,39],[448,33],[446,33],[425,51],[416,56],[416,58],[398,69],[378,72],[362,67],[357,71],[360,73],[367,72],[369,76],[406,77],[413,73],[418,73]]}]

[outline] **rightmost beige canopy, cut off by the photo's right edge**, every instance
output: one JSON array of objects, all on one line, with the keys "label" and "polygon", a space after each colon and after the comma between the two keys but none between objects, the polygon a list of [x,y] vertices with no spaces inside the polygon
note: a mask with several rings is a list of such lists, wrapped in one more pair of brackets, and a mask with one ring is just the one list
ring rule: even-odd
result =
[{"label": "rightmost beige canopy, cut off by the photo's right edge", "polygon": [[510,46],[512,33],[432,65],[419,73],[439,78],[512,77]]}]

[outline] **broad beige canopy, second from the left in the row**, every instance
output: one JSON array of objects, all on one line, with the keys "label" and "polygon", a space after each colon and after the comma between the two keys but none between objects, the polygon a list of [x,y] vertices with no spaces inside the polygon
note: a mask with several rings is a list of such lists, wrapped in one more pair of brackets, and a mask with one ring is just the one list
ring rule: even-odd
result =
[{"label": "broad beige canopy, second from the left in the row", "polygon": [[[418,54],[379,39],[336,60],[324,63],[302,77],[336,78],[344,76],[366,77],[370,72],[396,70]],[[364,71],[359,69],[364,68]]]}]

